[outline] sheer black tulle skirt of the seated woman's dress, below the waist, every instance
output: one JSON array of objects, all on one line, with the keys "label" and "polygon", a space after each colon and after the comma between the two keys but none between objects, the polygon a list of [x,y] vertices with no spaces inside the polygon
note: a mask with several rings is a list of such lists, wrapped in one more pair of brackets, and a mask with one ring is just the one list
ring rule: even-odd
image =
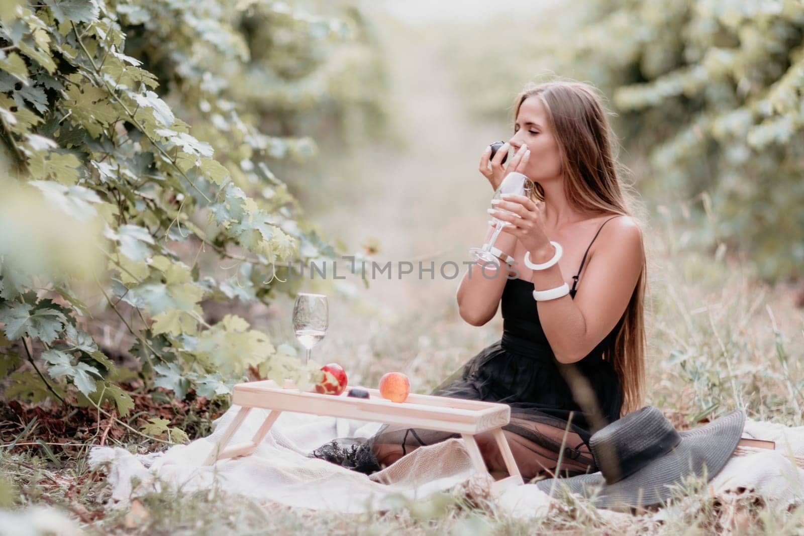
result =
[{"label": "sheer black tulle skirt of the seated woman's dress, below the waist", "polygon": [[[597,471],[589,437],[617,419],[621,407],[617,374],[600,356],[564,365],[548,345],[507,332],[430,394],[511,406],[503,432],[526,481]],[[452,437],[460,434],[384,424],[374,436],[338,438],[310,456],[370,474],[417,447]],[[490,470],[504,470],[490,434],[476,439]]]}]

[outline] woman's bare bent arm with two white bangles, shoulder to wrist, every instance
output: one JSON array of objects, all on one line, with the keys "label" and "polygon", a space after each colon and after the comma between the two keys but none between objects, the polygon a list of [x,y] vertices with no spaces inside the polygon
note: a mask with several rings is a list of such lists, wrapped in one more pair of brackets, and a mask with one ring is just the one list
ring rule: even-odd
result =
[{"label": "woman's bare bent arm with two white bangles, shoulder to wrist", "polygon": [[[617,218],[597,239],[580,278],[575,299],[569,295],[537,301],[539,322],[556,360],[572,363],[585,358],[605,338],[625,313],[642,272],[642,231],[633,219]],[[544,263],[552,252],[531,252],[531,261]],[[533,272],[536,290],[559,287],[564,276],[558,264]]]}]

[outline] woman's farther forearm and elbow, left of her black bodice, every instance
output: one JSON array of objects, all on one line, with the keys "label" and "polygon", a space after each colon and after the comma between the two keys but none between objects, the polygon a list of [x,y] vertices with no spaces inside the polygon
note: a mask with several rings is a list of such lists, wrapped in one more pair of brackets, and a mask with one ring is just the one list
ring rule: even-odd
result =
[{"label": "woman's farther forearm and elbow, left of her black bodice", "polygon": [[[486,233],[487,243],[491,239],[494,228],[489,226]],[[495,248],[511,255],[516,246],[516,237],[500,233],[494,243]],[[494,318],[500,298],[503,297],[503,288],[508,280],[508,268],[505,261],[500,261],[500,267],[493,264],[483,264],[478,261],[472,264],[457,288],[458,313],[471,325],[484,325]]]}]

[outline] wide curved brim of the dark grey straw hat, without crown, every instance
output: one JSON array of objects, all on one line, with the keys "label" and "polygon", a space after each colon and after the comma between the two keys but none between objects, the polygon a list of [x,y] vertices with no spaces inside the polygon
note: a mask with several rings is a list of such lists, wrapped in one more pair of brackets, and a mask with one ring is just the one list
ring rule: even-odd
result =
[{"label": "wide curved brim of the dark grey straw hat, without crown", "polygon": [[601,508],[650,506],[666,502],[671,486],[686,477],[704,474],[711,480],[728,462],[745,428],[745,411],[736,409],[695,430],[679,432],[681,442],[670,452],[658,456],[636,473],[613,484],[606,484],[601,473],[570,478],[551,478],[535,482],[545,493],[556,497],[579,493]]}]

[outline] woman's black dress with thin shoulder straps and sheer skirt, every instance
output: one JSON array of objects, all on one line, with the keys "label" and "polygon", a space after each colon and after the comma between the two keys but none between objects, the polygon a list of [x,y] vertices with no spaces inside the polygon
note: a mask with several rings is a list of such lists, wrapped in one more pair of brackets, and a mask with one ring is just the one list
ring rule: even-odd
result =
[{"label": "woman's black dress with thin shoulder straps and sheer skirt", "polygon": [[[613,218],[601,224],[586,248],[580,268],[573,276],[569,293],[572,299],[589,248],[603,225]],[[431,395],[509,404],[511,421],[503,430],[510,432],[507,434],[509,444],[514,439],[520,449],[519,469],[526,481],[555,473],[562,442],[562,475],[595,472],[597,467],[589,453],[589,437],[618,419],[622,405],[619,379],[611,363],[602,359],[602,354],[613,343],[625,317],[621,317],[585,358],[562,364],[556,361],[539,323],[533,290],[531,281],[519,278],[506,281],[501,298],[502,338],[486,346],[446,378]],[[572,433],[566,435],[565,432]],[[511,434],[516,437],[512,438]],[[315,449],[309,456],[370,474],[381,468],[374,455],[375,448],[393,444],[407,453],[451,437],[460,437],[460,434],[384,424],[370,438],[338,438]],[[534,453],[535,463],[529,464],[529,469],[519,462],[522,448]]]}]

